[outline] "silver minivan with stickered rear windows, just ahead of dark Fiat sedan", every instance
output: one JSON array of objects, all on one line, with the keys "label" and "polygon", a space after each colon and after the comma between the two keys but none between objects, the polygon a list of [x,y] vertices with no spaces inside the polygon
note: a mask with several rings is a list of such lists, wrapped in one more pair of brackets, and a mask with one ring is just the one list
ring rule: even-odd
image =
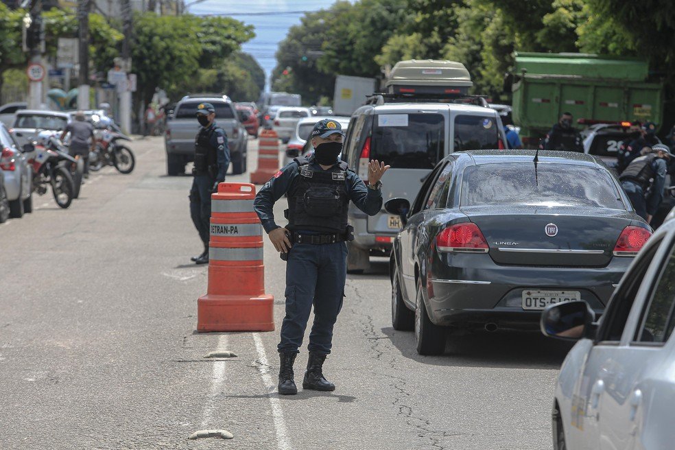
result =
[{"label": "silver minivan with stickered rear windows, just ahead of dark Fiat sedan", "polygon": [[[480,97],[417,103],[375,95],[369,102],[351,117],[342,160],[365,182],[368,161],[390,165],[382,178],[384,202],[394,197],[412,202],[427,174],[451,152],[506,148],[499,113]],[[359,273],[370,267],[371,255],[388,256],[401,221],[384,209],[368,217],[353,204],[348,220],[355,239],[348,243],[347,271]]]}]

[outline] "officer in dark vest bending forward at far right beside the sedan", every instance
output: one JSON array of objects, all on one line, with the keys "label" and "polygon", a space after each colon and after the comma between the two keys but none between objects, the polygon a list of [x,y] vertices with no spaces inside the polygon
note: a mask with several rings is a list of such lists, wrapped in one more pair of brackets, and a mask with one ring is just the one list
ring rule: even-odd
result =
[{"label": "officer in dark vest bending forward at far right beside the sedan", "polygon": [[663,200],[663,186],[670,156],[672,154],[667,145],[644,147],[641,156],[632,160],[619,177],[621,187],[630,198],[635,212],[648,224],[652,222],[652,217]]}]

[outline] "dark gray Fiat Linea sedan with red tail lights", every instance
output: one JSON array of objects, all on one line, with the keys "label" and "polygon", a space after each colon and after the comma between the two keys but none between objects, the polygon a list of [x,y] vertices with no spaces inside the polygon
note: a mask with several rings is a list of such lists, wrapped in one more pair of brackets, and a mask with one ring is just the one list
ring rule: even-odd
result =
[{"label": "dark gray Fiat Linea sedan with red tail lights", "polygon": [[417,351],[445,351],[447,331],[537,329],[548,305],[585,300],[602,313],[652,229],[595,156],[481,150],[443,159],[392,250],[392,323]]}]

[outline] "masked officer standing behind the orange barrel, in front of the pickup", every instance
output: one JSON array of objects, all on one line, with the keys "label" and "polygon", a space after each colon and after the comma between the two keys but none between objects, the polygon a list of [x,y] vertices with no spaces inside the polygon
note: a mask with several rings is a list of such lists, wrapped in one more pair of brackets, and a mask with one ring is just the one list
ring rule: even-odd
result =
[{"label": "masked officer standing behind the orange barrel, in front of the pickup", "polygon": [[227,167],[230,165],[230,149],[225,130],[215,124],[215,108],[212,104],[202,103],[197,107],[197,120],[201,128],[195,139],[190,215],[204,243],[204,252],[191,259],[198,264],[205,264],[209,262],[211,194],[217,191],[218,183],[225,180]]}]

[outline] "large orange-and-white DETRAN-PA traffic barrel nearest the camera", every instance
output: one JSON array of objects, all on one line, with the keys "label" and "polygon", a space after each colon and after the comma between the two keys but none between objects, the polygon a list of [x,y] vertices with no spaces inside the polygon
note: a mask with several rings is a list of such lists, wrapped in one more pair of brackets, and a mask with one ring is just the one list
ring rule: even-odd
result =
[{"label": "large orange-and-white DETRAN-PA traffic barrel nearest the camera", "polygon": [[197,300],[197,331],[273,331],[274,296],[265,294],[263,227],[255,187],[220,183],[211,196],[209,287]]}]

